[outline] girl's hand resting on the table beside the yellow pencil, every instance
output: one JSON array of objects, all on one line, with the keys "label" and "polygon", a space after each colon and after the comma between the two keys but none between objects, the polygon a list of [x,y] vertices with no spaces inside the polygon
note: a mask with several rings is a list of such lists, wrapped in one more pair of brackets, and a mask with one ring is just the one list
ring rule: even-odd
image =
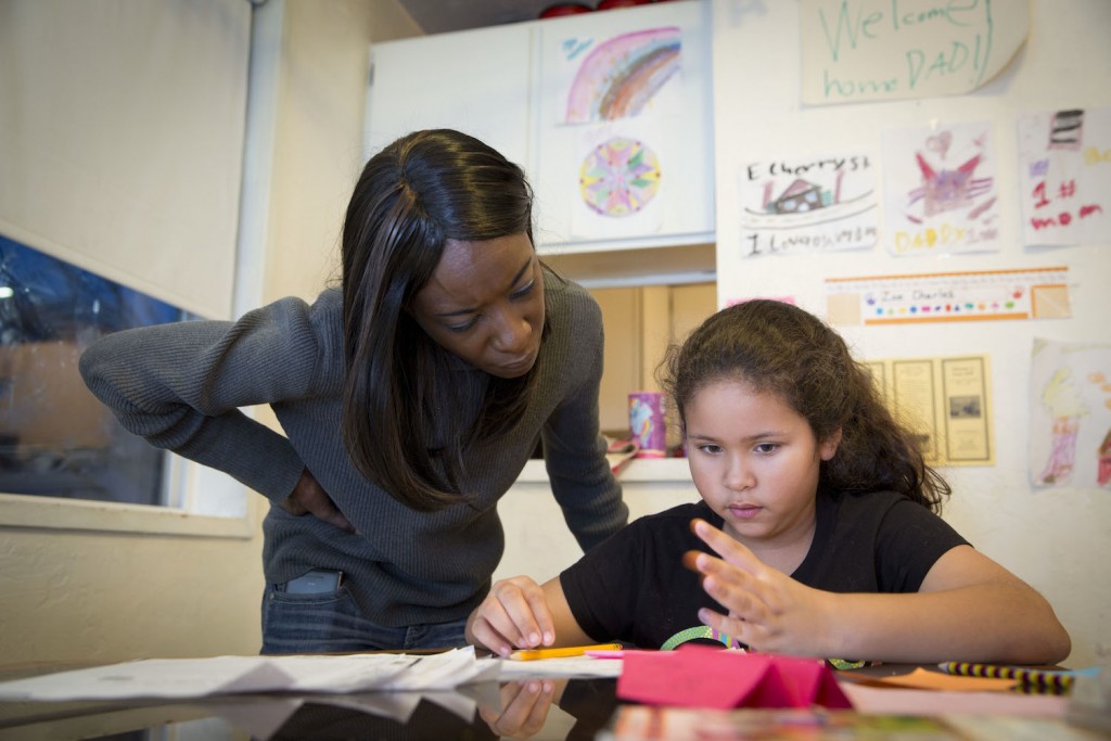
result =
[{"label": "girl's hand resting on the table beside the yellow pencil", "polygon": [[528,577],[496,582],[467,619],[467,640],[502,657],[514,648],[551,645],[556,628],[543,589]]}]

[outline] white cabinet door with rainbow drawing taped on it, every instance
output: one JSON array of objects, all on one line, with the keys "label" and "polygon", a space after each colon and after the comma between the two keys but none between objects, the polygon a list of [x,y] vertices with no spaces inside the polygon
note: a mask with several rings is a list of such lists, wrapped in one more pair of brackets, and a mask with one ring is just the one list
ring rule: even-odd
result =
[{"label": "white cabinet door with rainbow drawing taped on it", "polygon": [[[709,23],[708,3],[677,2],[537,24],[538,247],[640,249],[688,234],[711,241]],[[572,102],[569,116],[570,101],[582,104]],[[661,172],[651,199],[620,217],[589,206],[582,190],[583,162],[613,138],[650,149]]]}]

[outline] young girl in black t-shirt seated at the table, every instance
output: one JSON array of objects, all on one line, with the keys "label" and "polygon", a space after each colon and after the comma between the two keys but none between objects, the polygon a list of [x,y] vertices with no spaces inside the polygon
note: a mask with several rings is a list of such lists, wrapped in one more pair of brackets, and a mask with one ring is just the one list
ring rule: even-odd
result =
[{"label": "young girl in black t-shirt seated at the table", "polygon": [[730,307],[671,349],[667,371],[702,501],[634,521],[543,585],[497,582],[467,622],[471,643],[1068,655],[1050,604],[935,513],[948,484],[819,319],[778,301]]}]

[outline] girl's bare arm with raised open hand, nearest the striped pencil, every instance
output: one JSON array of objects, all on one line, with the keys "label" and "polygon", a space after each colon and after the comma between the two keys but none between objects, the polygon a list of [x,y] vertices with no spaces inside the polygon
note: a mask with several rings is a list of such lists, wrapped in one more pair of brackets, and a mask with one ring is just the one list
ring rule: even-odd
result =
[{"label": "girl's bare arm with raised open hand, nearest the striped pencil", "polygon": [[709,523],[695,533],[721,558],[691,555],[703,588],[728,610],[702,621],[759,651],[897,662],[1052,664],[1071,643],[1049,603],[969,545],[945,552],[915,593],[812,589],[757,559]]}]

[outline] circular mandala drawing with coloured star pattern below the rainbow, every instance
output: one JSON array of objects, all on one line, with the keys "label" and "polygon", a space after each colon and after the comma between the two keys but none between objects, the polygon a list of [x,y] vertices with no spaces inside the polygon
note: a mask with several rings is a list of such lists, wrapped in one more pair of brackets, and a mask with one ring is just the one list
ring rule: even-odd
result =
[{"label": "circular mandala drawing with coloured star pattern below the rainbow", "polygon": [[655,153],[635,139],[618,137],[599,144],[579,170],[582,200],[603,217],[635,213],[659,189]]}]

